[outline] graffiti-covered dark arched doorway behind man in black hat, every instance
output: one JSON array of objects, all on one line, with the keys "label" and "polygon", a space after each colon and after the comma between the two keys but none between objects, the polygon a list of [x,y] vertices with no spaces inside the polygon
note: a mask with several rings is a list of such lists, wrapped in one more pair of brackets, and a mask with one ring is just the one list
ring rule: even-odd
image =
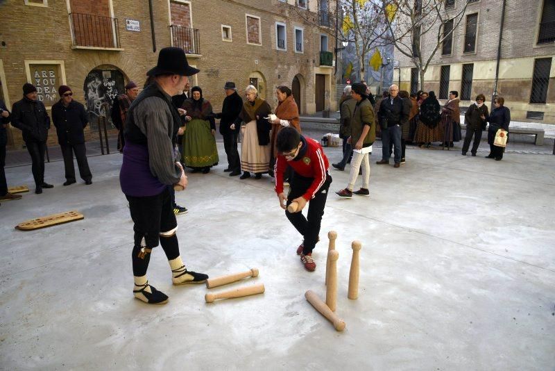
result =
[{"label": "graffiti-covered dark arched doorway behind man in black hat", "polygon": [[96,126],[99,116],[110,119],[112,102],[125,92],[125,79],[123,72],[112,65],[94,67],[83,83],[85,93],[85,106],[89,114],[89,122]]}]

